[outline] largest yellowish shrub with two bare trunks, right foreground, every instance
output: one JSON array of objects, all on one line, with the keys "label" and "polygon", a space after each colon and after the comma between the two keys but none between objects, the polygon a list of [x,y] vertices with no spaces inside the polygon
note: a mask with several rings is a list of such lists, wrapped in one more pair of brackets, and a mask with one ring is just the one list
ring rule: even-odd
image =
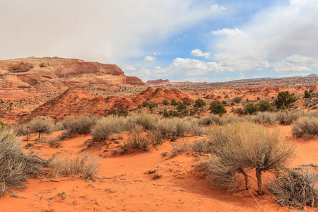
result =
[{"label": "largest yellowish shrub with two bare trunks, right foreground", "polygon": [[281,141],[278,131],[259,124],[236,122],[225,126],[213,126],[208,131],[213,157],[205,163],[208,180],[228,192],[237,189],[237,175],[245,176],[255,170],[258,193],[262,195],[261,172],[283,167],[293,155],[294,146]]}]

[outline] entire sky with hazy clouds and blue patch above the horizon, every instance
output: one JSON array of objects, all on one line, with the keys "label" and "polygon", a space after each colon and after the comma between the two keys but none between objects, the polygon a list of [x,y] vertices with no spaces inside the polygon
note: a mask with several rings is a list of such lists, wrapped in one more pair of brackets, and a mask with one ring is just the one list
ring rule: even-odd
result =
[{"label": "entire sky with hazy clouds and blue patch above the horizon", "polygon": [[143,81],[318,73],[318,0],[0,0],[0,59],[117,64]]}]

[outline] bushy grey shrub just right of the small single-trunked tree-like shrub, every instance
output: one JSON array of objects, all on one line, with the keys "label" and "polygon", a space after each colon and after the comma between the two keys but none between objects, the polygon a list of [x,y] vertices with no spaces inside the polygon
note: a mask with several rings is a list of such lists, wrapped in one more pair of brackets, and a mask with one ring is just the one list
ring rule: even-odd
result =
[{"label": "bushy grey shrub just right of the small single-trunked tree-like shrub", "polygon": [[70,138],[76,134],[89,134],[90,129],[96,123],[98,117],[95,115],[82,114],[80,117],[66,117],[61,124],[65,130],[64,136]]}]

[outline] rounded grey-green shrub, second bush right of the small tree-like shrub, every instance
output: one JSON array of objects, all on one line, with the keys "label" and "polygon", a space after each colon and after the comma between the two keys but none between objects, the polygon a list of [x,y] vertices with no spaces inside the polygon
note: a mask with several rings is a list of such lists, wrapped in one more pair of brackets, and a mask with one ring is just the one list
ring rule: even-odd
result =
[{"label": "rounded grey-green shrub, second bush right of the small tree-like shrub", "polygon": [[94,141],[100,141],[107,139],[112,134],[120,134],[126,129],[126,119],[124,117],[110,116],[98,119],[90,133]]}]

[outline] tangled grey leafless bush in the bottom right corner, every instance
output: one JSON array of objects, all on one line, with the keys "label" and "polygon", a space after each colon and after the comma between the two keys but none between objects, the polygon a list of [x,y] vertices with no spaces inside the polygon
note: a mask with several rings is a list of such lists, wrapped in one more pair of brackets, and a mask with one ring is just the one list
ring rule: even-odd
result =
[{"label": "tangled grey leafless bush in the bottom right corner", "polygon": [[315,172],[303,167],[299,170],[284,168],[267,187],[281,206],[303,210],[305,206],[318,206],[317,177]]}]

